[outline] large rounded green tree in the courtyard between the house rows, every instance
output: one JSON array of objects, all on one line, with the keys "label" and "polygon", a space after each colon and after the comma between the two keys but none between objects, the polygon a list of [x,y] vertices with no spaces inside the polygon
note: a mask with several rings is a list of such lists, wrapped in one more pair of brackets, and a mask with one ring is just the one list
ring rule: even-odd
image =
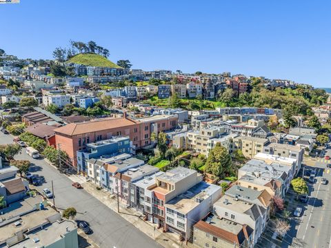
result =
[{"label": "large rounded green tree in the courtyard between the house rows", "polygon": [[232,160],[224,146],[217,144],[210,151],[207,162],[205,162],[205,171],[222,178],[225,174],[232,173]]}]

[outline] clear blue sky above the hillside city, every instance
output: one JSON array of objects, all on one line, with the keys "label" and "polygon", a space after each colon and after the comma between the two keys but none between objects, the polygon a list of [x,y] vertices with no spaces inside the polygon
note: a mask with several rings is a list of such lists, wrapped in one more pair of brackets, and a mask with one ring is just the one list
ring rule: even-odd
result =
[{"label": "clear blue sky above the hillside city", "polygon": [[0,5],[0,48],[52,58],[90,41],[133,68],[243,73],[331,87],[331,1],[21,0]]}]

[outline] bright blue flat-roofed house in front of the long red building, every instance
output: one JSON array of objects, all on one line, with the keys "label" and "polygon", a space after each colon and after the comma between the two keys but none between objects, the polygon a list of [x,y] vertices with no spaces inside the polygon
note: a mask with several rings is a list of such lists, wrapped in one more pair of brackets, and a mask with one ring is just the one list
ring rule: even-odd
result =
[{"label": "bright blue flat-roofed house in front of the long red building", "polygon": [[97,141],[93,143],[90,143],[89,137],[83,137],[81,139],[82,145],[85,145],[86,149],[77,151],[77,169],[85,173],[88,173],[86,166],[91,158],[130,153],[130,138],[128,136],[114,136],[108,140],[101,140],[101,136],[99,136]]}]

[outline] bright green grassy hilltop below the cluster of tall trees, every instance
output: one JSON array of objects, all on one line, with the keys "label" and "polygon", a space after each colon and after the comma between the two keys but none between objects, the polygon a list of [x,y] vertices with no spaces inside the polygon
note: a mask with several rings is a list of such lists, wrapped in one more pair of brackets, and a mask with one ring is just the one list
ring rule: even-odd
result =
[{"label": "bright green grassy hilltop below the cluster of tall trees", "polygon": [[70,58],[68,63],[74,64],[83,64],[85,66],[99,66],[99,67],[110,67],[110,68],[121,68],[121,66],[117,66],[109,59],[92,53],[81,53],[79,55],[75,55]]}]

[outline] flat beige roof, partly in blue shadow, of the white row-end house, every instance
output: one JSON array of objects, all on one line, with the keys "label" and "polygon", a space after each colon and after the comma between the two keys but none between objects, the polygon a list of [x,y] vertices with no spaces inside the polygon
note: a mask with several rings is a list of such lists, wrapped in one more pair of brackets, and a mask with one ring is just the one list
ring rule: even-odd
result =
[{"label": "flat beige roof, partly in blue shadow, of the white row-end house", "polygon": [[210,197],[217,191],[220,191],[221,187],[215,184],[208,184],[207,182],[199,182],[199,184],[194,185],[188,191],[185,191],[176,198],[170,200],[165,207],[174,209],[180,213],[186,214],[197,207],[201,201]]}]

